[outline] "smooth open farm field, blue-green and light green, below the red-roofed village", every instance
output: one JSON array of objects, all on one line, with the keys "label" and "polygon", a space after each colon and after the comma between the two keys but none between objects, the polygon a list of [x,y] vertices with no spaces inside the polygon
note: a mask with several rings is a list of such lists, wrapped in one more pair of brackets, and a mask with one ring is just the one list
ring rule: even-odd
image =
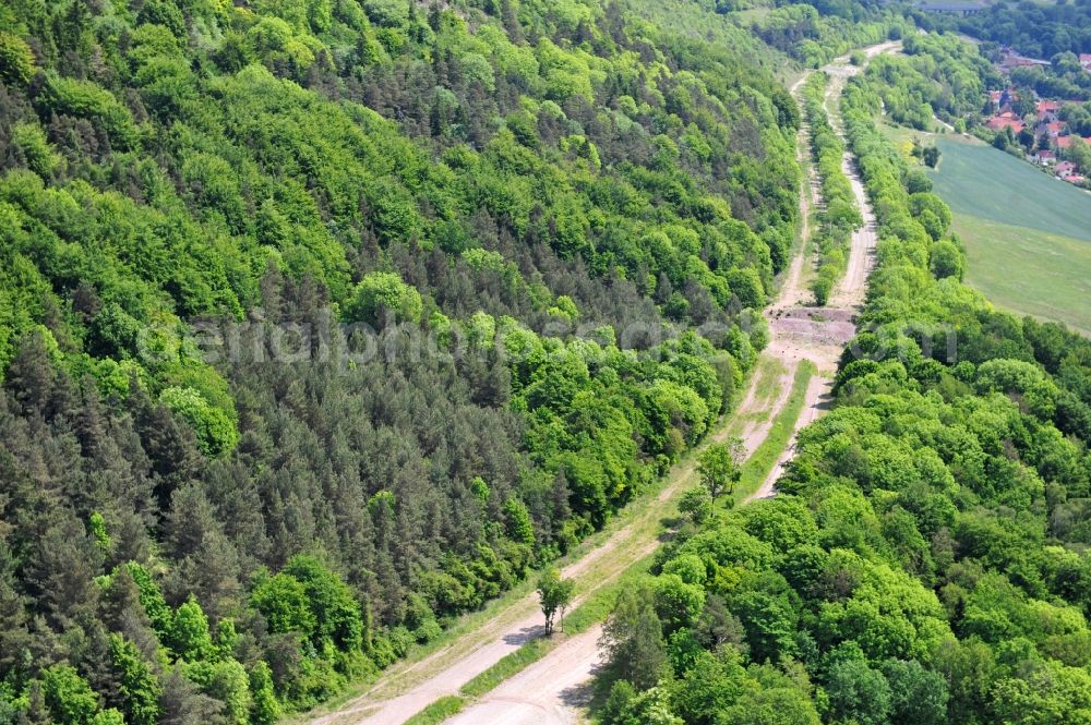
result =
[{"label": "smooth open farm field, blue-green and light green, below the red-roofed village", "polygon": [[930,176],[955,213],[968,281],[998,306],[1091,335],[1091,194],[981,143],[936,143]]}]

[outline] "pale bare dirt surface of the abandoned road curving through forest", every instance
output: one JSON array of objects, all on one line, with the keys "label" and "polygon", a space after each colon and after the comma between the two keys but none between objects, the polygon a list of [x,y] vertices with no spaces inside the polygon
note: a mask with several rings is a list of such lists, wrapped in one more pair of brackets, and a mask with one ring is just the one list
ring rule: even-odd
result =
[{"label": "pale bare dirt surface of the abandoned road curving through forest", "polygon": [[[867,50],[868,57],[896,47],[882,44]],[[838,59],[827,72],[831,75],[849,75],[848,57]],[[855,69],[852,69],[855,70]],[[806,75],[791,88],[798,90]],[[806,130],[801,131],[801,148],[806,148]],[[853,167],[849,164],[849,169]],[[804,240],[808,233],[807,217],[817,201],[813,170],[808,169],[801,190],[801,212],[804,219]],[[853,174],[853,190],[858,203],[864,212],[865,220],[872,219],[871,209],[863,188]],[[818,374],[807,386],[803,412],[796,421],[799,431],[817,418],[828,403],[832,385],[832,374],[844,343],[854,333],[853,315],[864,299],[866,276],[872,264],[875,235],[865,223],[861,232],[852,238],[849,269],[841,285],[835,291],[831,304],[815,309],[804,306],[811,293],[804,278],[812,262],[806,255],[798,254],[784,274],[776,302],[766,311],[770,325],[771,341],[763,355],[778,361],[777,366],[766,365],[767,375],[776,376],[774,385],[778,389],[776,399],[760,400],[757,395],[759,376],[751,380],[751,388],[744,396],[736,416],[753,415],[743,428],[742,438],[747,452],[753,452],[768,435],[777,413],[786,404],[792,387],[795,370],[802,360],[810,360],[817,366]],[[806,245],[804,244],[804,249]],[[855,262],[853,262],[855,261]],[[763,385],[768,385],[767,382]],[[764,414],[764,418],[757,415]],[[726,438],[728,426],[721,426],[712,436],[714,442]],[[774,483],[782,471],[783,463],[791,457],[792,444],[782,454],[760,488],[747,500],[774,494]],[[575,578],[579,597],[586,597],[595,589],[613,581],[628,566],[656,549],[659,542],[654,531],[646,525],[652,517],[658,520],[664,512],[661,506],[676,497],[681,491],[692,485],[696,478],[693,458],[679,464],[669,474],[669,483],[658,496],[660,506],[648,506],[633,517],[624,528],[619,529],[597,548],[565,567],[563,575]],[[642,525],[645,524],[645,525]],[[527,595],[503,608],[493,619],[467,632],[449,647],[413,664],[397,664],[364,696],[349,702],[337,712],[315,717],[312,725],[397,725],[436,699],[456,694],[458,689],[476,675],[488,669],[504,655],[514,652],[528,639],[541,633],[541,615],[537,597]],[[568,724],[579,720],[578,708],[586,701],[586,682],[598,663],[598,639],[600,627],[563,641],[556,649],[539,662],[500,685],[493,691],[471,705],[449,723],[461,725],[490,723],[493,725],[548,725]]]}]

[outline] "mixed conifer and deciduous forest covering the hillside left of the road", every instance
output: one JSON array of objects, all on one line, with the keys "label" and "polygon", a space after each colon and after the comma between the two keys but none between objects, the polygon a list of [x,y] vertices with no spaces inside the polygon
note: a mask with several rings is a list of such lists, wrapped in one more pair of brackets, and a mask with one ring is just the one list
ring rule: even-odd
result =
[{"label": "mixed conifer and deciduous forest covering the hillside left of the road", "polygon": [[674,4],[0,4],[0,721],[274,722],[703,436],[799,114]]}]

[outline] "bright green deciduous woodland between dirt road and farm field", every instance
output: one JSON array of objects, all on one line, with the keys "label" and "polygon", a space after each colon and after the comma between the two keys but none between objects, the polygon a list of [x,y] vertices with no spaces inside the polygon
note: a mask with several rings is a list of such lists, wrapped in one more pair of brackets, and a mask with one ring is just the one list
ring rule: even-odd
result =
[{"label": "bright green deciduous woodland between dirt road and farm field", "polygon": [[683,524],[606,628],[603,723],[1084,723],[1091,343],[960,281],[950,213],[841,111],[879,225],[837,404],[776,498]]}]

